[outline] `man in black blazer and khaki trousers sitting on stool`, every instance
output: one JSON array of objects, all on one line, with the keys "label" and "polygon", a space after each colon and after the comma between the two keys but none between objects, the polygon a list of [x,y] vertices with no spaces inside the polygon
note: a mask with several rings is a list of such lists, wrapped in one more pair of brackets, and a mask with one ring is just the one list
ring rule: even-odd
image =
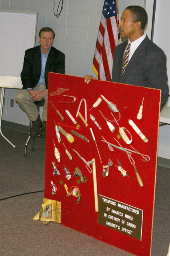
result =
[{"label": "man in black blazer and khaki trousers sitting on stool", "polygon": [[[55,33],[51,28],[39,32],[40,46],[26,50],[21,72],[23,88],[16,95],[16,103],[32,121],[30,135],[39,134],[45,138],[47,121],[48,72],[65,74],[65,54],[54,48]],[[42,120],[34,101],[45,99]]]}]

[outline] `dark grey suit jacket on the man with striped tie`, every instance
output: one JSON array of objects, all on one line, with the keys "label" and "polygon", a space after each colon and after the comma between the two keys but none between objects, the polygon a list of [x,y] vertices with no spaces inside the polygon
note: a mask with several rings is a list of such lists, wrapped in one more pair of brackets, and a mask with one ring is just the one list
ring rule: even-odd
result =
[{"label": "dark grey suit jacket on the man with striped tie", "polygon": [[111,81],[161,89],[162,109],[169,94],[166,55],[146,36],[134,52],[123,76],[121,76],[122,61],[127,44],[128,41],[119,44],[115,49]]}]

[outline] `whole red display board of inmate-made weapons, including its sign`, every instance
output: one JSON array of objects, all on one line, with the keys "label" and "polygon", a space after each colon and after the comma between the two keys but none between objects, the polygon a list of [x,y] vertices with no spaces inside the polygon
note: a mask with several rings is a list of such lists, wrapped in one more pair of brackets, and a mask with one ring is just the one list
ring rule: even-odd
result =
[{"label": "whole red display board of inmate-made weapons, including its sign", "polygon": [[[44,198],[61,202],[61,209],[57,209],[61,210],[61,224],[134,255],[149,256],[154,211],[160,90],[99,80],[91,80],[89,84],[85,84],[84,78],[55,73],[49,73],[48,84]],[[54,92],[60,92],[59,88],[69,90],[53,95]],[[97,101],[99,98],[102,100],[100,103]],[[142,102],[142,118],[137,119]],[[79,115],[77,116],[80,112],[86,119],[85,106],[88,126]],[[113,112],[109,106],[114,107],[117,112]],[[75,123],[65,110],[70,112]],[[98,126],[92,118],[95,118]],[[129,120],[132,120],[141,131],[140,136],[129,124]],[[66,136],[59,132],[59,142],[55,124],[67,134],[71,134],[74,141],[69,142]],[[114,132],[111,132],[109,125],[115,127]],[[120,136],[121,130],[126,132],[129,140],[132,136],[130,144]],[[109,146],[113,147],[113,151],[109,150]],[[54,154],[55,148],[60,154],[59,162]],[[67,150],[72,160],[66,154]],[[53,175],[53,163],[60,175]],[[67,169],[67,173],[64,168]],[[74,176],[76,168],[81,171],[81,176]],[[97,190],[94,191],[95,169]],[[71,178],[67,179],[67,175],[71,175]],[[138,181],[139,176],[142,181]],[[82,177],[86,177],[87,180],[81,182]],[[51,193],[51,181],[57,188],[55,194]],[[64,184],[67,185],[67,192]],[[72,195],[74,188],[75,192],[81,194],[79,203],[78,197]],[[67,196],[68,192],[72,193],[71,196]],[[96,192],[99,210],[95,207]]]}]

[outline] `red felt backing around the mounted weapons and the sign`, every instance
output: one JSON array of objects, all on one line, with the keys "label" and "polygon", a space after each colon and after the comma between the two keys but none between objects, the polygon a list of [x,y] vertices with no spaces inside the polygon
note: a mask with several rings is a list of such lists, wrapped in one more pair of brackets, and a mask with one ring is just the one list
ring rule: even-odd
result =
[{"label": "red felt backing around the mounted weapons and the sign", "polygon": [[[160,90],[98,80],[92,80],[90,84],[85,84],[83,78],[55,73],[49,73],[48,84],[49,93],[44,197],[61,202],[61,224],[126,250],[132,254],[138,256],[150,255],[156,179]],[[57,88],[68,88],[69,90],[57,96],[50,96],[50,93],[57,91]],[[103,136],[108,142],[119,146],[114,139],[116,138],[122,147],[132,149],[123,141],[122,138],[117,138],[117,134],[119,134],[119,127],[116,123],[113,123],[116,128],[115,132],[112,133],[109,130],[106,120],[99,112],[99,110],[101,110],[106,118],[113,120],[111,110],[104,100],[102,100],[97,108],[92,108],[89,111],[101,94],[105,96],[107,100],[116,104],[118,110],[120,111],[121,119],[118,121],[118,123],[119,126],[127,128],[132,135],[132,143],[130,145],[138,150],[138,152],[150,156],[150,160],[148,162],[144,162],[142,160],[142,156],[132,153],[135,166],[144,184],[143,187],[140,187],[138,184],[134,168],[132,164],[130,164],[127,154],[117,148],[114,148],[114,151],[111,152],[108,149],[107,143],[101,141],[103,140],[101,136]],[[76,101],[74,103],[58,103],[58,101],[72,101],[72,98],[65,97],[63,95],[75,96]],[[138,120],[136,116],[143,97],[144,103],[142,119]],[[87,102],[87,123],[89,124],[87,127],[79,116],[76,118],[79,103],[82,98],[84,98]],[[49,100],[62,114],[64,117],[63,121],[61,121],[61,118],[58,116],[53,106],[49,103]],[[80,124],[80,129],[68,127],[75,127],[75,124],[73,124],[71,119],[67,116],[65,109],[69,110],[77,123]],[[80,112],[85,118],[84,102],[81,104]],[[99,130],[99,128],[91,120],[90,114],[95,116],[97,122],[102,127],[101,130]],[[119,114],[113,114],[115,118],[118,119]],[[129,119],[133,120],[142,133],[146,136],[148,143],[145,143],[128,124]],[[75,138],[75,141],[70,143],[65,136],[61,134],[61,132],[61,142],[58,143],[55,135],[54,121],[56,123],[61,123],[60,126],[70,134],[71,129],[75,130],[79,134],[83,134],[89,139],[89,143],[73,134],[72,135]],[[93,129],[101,155],[102,164],[89,129],[90,127]],[[61,155],[60,162],[57,162],[54,155],[53,140]],[[68,158],[62,142],[65,144],[67,150],[71,153],[73,160]],[[87,161],[95,158],[98,195],[100,194],[143,210],[141,241],[97,223],[98,212],[95,212],[93,174],[88,172],[85,163],[81,158],[79,158],[73,149],[79,152],[79,154]],[[107,165],[109,159],[112,160],[113,166],[109,168],[109,176],[103,177],[103,165]],[[118,165],[117,159],[119,159],[121,165],[127,171],[129,178],[123,177],[121,172],[117,170],[115,166]],[[53,176],[52,162],[55,162],[57,169],[60,172],[60,176]],[[65,178],[63,164],[65,164],[65,166],[69,169],[71,174],[70,180]],[[73,177],[76,167],[79,167],[82,175],[88,178],[87,182],[77,184],[77,180],[79,178]],[[51,194],[51,180],[57,186],[57,193],[54,195]],[[77,204],[77,198],[67,196],[63,184],[60,184],[61,180],[63,180],[63,183],[67,184],[69,191],[71,186],[77,186],[79,188],[81,192],[81,202],[79,204]]]}]

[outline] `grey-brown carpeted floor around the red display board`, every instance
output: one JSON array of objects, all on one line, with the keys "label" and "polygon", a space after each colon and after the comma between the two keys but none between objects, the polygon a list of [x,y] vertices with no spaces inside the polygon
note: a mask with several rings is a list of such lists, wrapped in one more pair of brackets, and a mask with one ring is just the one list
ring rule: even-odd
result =
[{"label": "grey-brown carpeted floor around the red display board", "polygon": [[[3,128],[0,136],[0,256],[130,256],[132,254],[55,222],[32,220],[42,209],[45,139],[35,151],[26,133]],[[157,168],[151,256],[166,256],[170,242],[170,169]],[[146,255],[149,256],[149,255]]]}]

